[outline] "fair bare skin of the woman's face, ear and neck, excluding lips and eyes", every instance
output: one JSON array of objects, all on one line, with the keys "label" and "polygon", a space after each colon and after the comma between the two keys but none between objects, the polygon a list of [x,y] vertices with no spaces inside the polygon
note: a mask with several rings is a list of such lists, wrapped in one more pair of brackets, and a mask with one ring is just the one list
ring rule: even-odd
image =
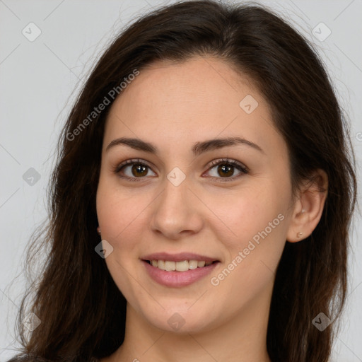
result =
[{"label": "fair bare skin of the woman's face, ear and neck, excluding lips and eyes", "polygon": [[[246,95],[258,103],[250,114],[239,105]],[[119,137],[141,139],[158,152],[124,144],[106,150]],[[246,139],[262,151],[238,144],[192,152],[197,142],[226,137]],[[127,165],[114,172],[134,158],[146,168]],[[227,162],[210,165],[223,158],[248,173]],[[223,173],[223,165],[230,171]],[[168,179],[174,168],[185,175],[177,186]],[[316,172],[326,187],[327,176]],[[250,78],[210,57],[142,69],[112,105],[103,139],[98,221],[102,239],[113,247],[105,262],[127,299],[127,322],[124,343],[102,362],[270,361],[274,274],[286,240],[308,237],[320,221],[326,194],[315,192],[317,186],[302,187],[292,198],[286,143]],[[267,236],[246,255],[263,230]],[[142,260],[155,252],[192,252],[218,263],[192,284],[165,286]],[[239,252],[243,261],[235,263]],[[230,274],[218,277],[233,260]],[[178,329],[169,323],[175,313],[183,323]]]}]

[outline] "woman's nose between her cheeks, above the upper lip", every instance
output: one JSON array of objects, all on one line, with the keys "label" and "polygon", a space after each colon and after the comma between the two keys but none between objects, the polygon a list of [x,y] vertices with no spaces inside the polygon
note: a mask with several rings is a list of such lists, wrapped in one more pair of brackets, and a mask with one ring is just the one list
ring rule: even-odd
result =
[{"label": "woman's nose between her cheeks, above the upper lip", "polygon": [[187,178],[178,186],[166,179],[163,192],[152,205],[151,230],[168,240],[178,240],[202,229],[205,206],[190,189]]}]

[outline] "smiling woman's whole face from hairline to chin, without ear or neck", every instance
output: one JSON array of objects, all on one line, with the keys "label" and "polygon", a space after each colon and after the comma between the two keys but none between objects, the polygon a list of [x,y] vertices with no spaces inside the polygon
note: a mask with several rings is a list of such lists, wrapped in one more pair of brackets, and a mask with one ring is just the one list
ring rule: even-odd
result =
[{"label": "smiling woman's whole face from hairline to chin, without ear or neck", "polygon": [[144,325],[200,332],[267,310],[291,180],[252,81],[202,57],[141,70],[107,118],[97,212],[107,267]]}]

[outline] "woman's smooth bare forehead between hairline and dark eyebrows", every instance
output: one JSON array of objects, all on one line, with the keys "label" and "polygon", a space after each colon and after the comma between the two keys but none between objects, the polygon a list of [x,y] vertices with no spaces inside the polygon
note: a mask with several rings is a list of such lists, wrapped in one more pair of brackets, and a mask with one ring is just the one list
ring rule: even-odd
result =
[{"label": "woman's smooth bare forehead between hairline and dark eyebrows", "polygon": [[141,69],[113,103],[105,140],[132,136],[167,146],[237,135],[264,143],[270,132],[279,136],[252,79],[219,59],[195,57]]}]

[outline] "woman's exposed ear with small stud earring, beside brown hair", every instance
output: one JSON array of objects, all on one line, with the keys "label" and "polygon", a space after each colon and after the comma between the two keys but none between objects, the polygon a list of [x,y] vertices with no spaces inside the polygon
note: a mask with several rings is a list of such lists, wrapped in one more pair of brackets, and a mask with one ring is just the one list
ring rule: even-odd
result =
[{"label": "woman's exposed ear with small stud earring, beside brown hair", "polygon": [[286,240],[297,243],[308,238],[320,222],[327,199],[328,176],[324,170],[315,170],[311,178],[303,183],[293,206],[293,214]]}]

